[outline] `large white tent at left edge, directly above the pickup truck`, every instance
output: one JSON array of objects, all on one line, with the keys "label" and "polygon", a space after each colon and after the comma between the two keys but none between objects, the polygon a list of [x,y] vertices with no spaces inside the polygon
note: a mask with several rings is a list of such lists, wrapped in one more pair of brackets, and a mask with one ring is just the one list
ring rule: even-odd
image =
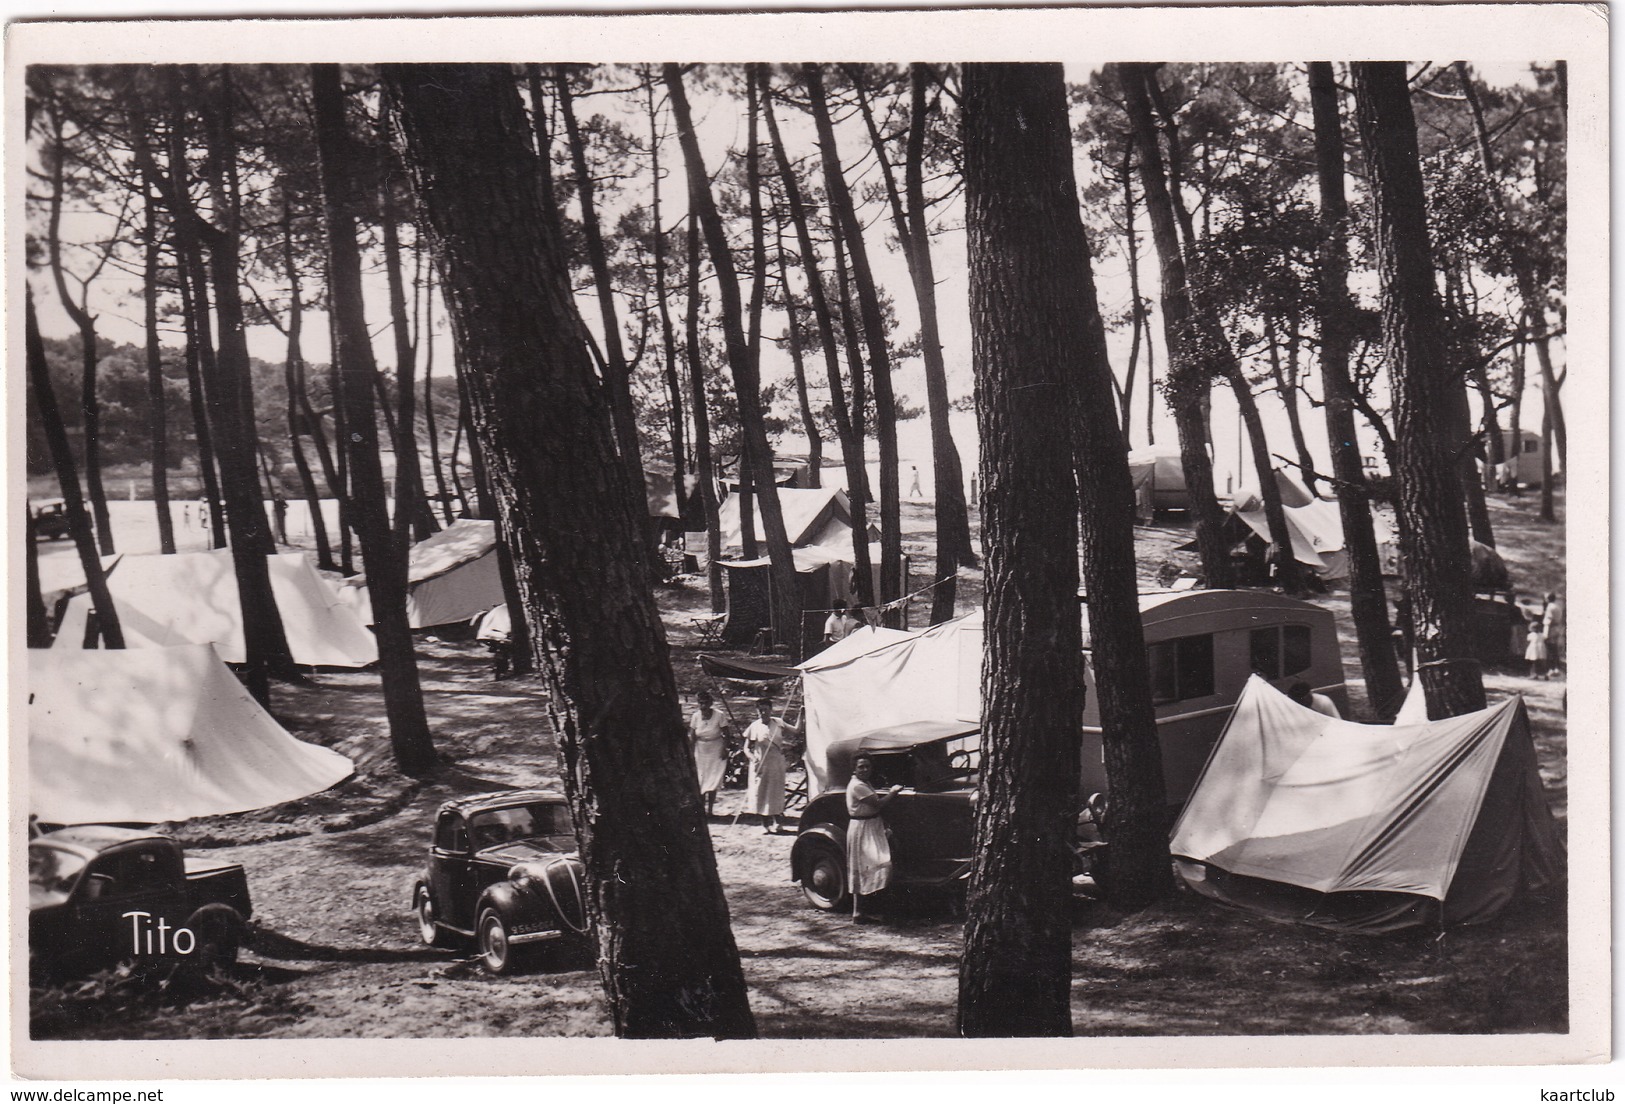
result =
[{"label": "large white tent at left edge, directly above the pickup truck", "polygon": [[291,737],[208,644],[29,649],[28,693],[28,808],[52,824],[240,813],[354,771]]}]

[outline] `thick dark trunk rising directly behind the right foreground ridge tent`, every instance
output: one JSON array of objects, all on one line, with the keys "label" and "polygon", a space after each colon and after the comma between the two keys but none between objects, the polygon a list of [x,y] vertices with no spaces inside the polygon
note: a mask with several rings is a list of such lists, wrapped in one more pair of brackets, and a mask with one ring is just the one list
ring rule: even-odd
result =
[{"label": "thick dark trunk rising directly behind the right foreground ridge tent", "polygon": [[1484,676],[1471,658],[1467,519],[1450,439],[1438,432],[1461,384],[1445,358],[1406,65],[1355,62],[1350,72],[1375,203],[1404,585],[1428,715],[1454,717],[1484,709]]}]

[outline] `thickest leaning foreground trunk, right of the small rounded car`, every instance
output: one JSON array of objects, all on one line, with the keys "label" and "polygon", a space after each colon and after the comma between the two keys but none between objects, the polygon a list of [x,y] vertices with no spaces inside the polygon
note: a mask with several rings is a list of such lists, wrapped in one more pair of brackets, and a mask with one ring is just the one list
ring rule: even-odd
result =
[{"label": "thickest leaning foreground trunk, right of the small rounded car", "polygon": [[384,81],[543,658],[616,1034],[754,1036],[660,613],[635,556],[644,519],[618,493],[611,413],[528,185],[536,159],[518,89],[499,65],[390,65]]}]

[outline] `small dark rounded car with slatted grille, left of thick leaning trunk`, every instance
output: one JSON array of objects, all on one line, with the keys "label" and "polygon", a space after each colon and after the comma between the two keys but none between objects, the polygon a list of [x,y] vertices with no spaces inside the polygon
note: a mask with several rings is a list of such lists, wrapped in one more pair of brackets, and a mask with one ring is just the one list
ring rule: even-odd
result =
[{"label": "small dark rounded car with slatted grille, left of thick leaning trunk", "polygon": [[582,862],[570,806],[541,790],[502,790],[440,805],[429,868],[413,886],[431,946],[473,940],[492,974],[538,943],[587,938]]}]

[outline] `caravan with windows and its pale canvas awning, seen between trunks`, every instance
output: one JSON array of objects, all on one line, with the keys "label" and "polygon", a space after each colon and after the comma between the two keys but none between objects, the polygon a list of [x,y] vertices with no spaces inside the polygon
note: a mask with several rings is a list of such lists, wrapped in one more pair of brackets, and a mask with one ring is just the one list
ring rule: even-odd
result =
[{"label": "caravan with windows and its pale canvas awning, seen between trunks", "polygon": [[[1087,606],[1081,616],[1087,699],[1079,782],[1087,793],[1105,790],[1107,777]],[[1191,792],[1253,672],[1268,672],[1279,686],[1305,681],[1347,711],[1331,610],[1253,590],[1183,590],[1139,595],[1139,616],[1168,802]],[[972,613],[866,652],[830,649],[801,663],[806,761],[819,785],[826,748],[838,740],[915,720],[978,722],[982,634],[982,613]]]}]

